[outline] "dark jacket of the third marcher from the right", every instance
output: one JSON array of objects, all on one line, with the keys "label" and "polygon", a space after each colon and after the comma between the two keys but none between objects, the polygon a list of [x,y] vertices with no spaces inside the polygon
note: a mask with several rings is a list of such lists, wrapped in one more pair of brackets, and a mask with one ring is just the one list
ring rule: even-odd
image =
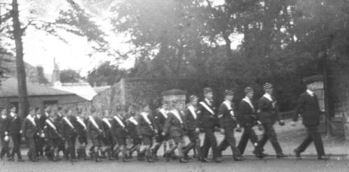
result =
[{"label": "dark jacket of the third marcher from the right", "polygon": [[255,106],[253,101],[251,103],[254,110],[244,100],[240,101],[239,103],[239,108],[237,110],[237,121],[241,127],[253,127],[255,124],[257,124],[257,106]]}]

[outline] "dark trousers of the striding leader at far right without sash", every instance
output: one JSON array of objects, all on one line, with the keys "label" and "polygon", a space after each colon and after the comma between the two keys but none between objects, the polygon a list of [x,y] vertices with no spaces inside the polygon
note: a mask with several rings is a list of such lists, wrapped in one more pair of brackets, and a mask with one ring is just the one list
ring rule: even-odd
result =
[{"label": "dark trousers of the striding leader at far right without sash", "polygon": [[304,152],[304,150],[306,150],[306,148],[313,141],[316,148],[316,152],[318,152],[318,157],[325,156],[324,145],[322,143],[320,132],[318,131],[318,125],[306,126],[306,131],[308,132],[308,136],[306,136],[303,143],[299,145],[299,147],[297,148],[297,151]]}]

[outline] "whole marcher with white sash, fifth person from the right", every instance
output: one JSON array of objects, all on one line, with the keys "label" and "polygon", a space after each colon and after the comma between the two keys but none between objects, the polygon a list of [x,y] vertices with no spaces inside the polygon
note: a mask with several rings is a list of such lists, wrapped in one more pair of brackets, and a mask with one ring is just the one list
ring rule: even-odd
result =
[{"label": "whole marcher with white sash, fifth person from the right", "polygon": [[212,89],[209,87],[205,87],[203,89],[203,92],[205,99],[204,101],[200,101],[199,103],[200,126],[205,132],[205,139],[201,151],[201,162],[210,162],[210,160],[207,159],[207,155],[209,154],[209,148],[212,148],[214,161],[223,162],[223,159],[219,157],[217,149],[217,139],[216,136],[214,136],[215,127],[218,126],[216,108],[214,107],[213,103],[214,94],[212,92]]}]

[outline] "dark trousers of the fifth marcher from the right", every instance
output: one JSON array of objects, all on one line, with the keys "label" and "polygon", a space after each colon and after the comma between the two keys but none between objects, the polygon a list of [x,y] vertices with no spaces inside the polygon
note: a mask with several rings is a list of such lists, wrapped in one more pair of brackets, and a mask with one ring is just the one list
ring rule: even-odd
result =
[{"label": "dark trousers of the fifth marcher from the right", "polygon": [[209,148],[212,148],[213,157],[218,157],[218,148],[217,148],[217,139],[216,136],[214,136],[214,128],[206,128],[205,131],[205,138],[204,143],[202,145],[202,156],[201,157],[207,157],[209,155]]}]

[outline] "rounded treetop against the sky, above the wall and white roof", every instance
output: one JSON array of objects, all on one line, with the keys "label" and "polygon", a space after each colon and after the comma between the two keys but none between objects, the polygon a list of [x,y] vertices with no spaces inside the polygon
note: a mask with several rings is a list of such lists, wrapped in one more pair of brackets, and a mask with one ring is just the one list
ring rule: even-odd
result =
[{"label": "rounded treetop against the sky, above the wall and white roof", "polygon": [[126,71],[121,71],[118,66],[110,64],[110,62],[104,62],[100,66],[96,67],[92,71],[89,71],[87,80],[90,85],[101,86],[103,83],[107,85],[113,85],[119,82],[121,78],[126,76]]}]

